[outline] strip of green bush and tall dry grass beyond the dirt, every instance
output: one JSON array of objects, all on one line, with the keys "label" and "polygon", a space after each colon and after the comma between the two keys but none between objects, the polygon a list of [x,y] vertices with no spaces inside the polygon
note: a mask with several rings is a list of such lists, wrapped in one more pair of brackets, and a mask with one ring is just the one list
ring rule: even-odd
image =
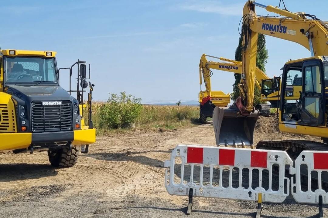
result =
[{"label": "strip of green bush and tall dry grass beyond the dirt", "polygon": [[[106,102],[92,102],[93,126],[99,134],[107,130],[131,127],[137,128],[177,128],[190,126],[199,118],[198,106],[159,106],[141,105],[141,99],[121,92],[110,94]],[[87,124],[88,106],[84,109],[84,120]]]}]

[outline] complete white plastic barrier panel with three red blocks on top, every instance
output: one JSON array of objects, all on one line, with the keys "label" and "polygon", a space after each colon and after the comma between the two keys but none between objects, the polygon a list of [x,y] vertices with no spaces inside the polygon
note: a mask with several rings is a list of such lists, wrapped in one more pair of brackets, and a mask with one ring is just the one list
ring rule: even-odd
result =
[{"label": "complete white plastic barrier panel with three red blocks on top", "polygon": [[174,195],[192,189],[193,196],[280,203],[289,195],[285,165],[293,166],[285,151],[177,145],[165,161],[165,187]]}]

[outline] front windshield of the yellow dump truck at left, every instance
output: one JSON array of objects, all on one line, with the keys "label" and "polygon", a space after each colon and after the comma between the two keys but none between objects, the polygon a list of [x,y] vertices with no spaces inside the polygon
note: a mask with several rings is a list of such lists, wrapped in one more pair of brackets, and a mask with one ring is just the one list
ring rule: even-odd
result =
[{"label": "front windshield of the yellow dump truck at left", "polygon": [[57,83],[54,58],[6,57],[7,83]]}]

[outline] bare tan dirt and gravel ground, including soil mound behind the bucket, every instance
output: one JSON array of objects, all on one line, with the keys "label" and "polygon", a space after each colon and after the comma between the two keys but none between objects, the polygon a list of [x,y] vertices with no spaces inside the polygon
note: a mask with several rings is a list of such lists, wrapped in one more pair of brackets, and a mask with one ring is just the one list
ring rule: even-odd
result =
[{"label": "bare tan dirt and gravel ground, including soil mound behind the bucket", "polygon": [[[44,152],[0,154],[0,217],[187,216],[187,197],[169,195],[164,188],[164,160],[180,143],[215,145],[212,128],[200,125],[173,132],[100,136],[89,154],[65,169],[52,168]],[[273,118],[266,118],[257,126],[256,141],[268,131],[271,139],[291,137],[276,130]],[[263,217],[318,213],[317,207],[295,204],[292,199],[263,208]],[[193,209],[190,217],[254,217],[256,203],[195,198]],[[324,212],[328,214],[327,209]]]}]

